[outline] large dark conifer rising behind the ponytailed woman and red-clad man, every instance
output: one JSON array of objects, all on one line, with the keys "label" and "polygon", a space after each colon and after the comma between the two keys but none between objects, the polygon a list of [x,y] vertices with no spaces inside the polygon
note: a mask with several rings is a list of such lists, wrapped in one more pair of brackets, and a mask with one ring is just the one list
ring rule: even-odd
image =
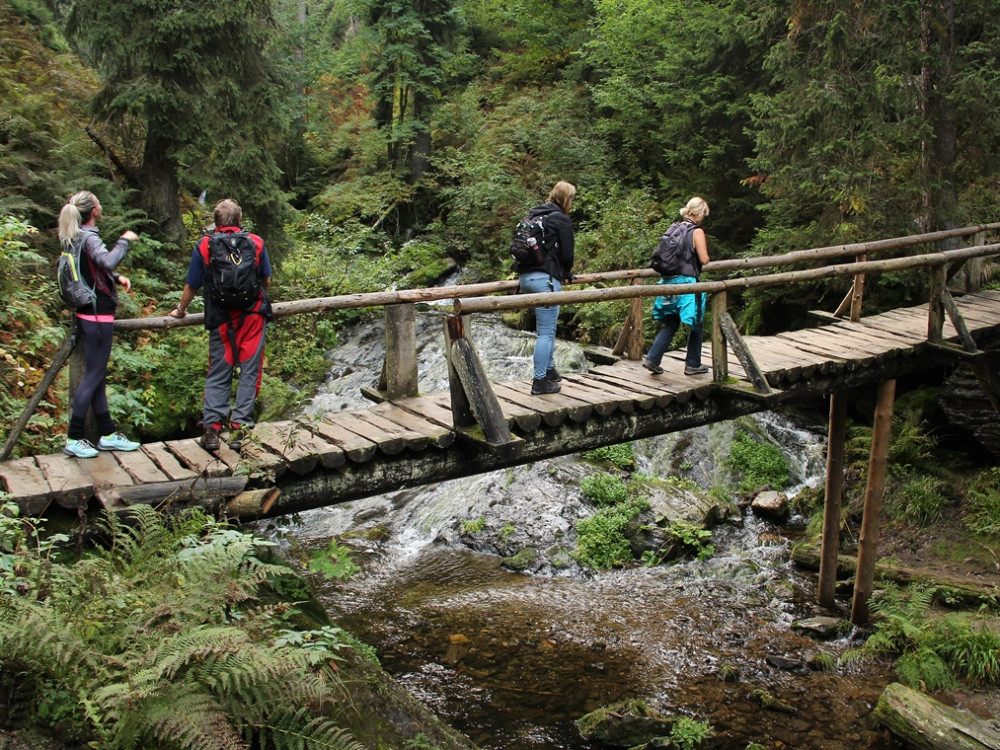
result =
[{"label": "large dark conifer rising behind the ponytailed woman and red-clad man", "polygon": [[104,145],[118,149],[167,239],[183,238],[182,189],[235,197],[258,228],[274,222],[272,146],[288,92],[271,57],[275,31],[270,0],[70,5],[67,34],[101,80],[94,113],[112,127]]}]

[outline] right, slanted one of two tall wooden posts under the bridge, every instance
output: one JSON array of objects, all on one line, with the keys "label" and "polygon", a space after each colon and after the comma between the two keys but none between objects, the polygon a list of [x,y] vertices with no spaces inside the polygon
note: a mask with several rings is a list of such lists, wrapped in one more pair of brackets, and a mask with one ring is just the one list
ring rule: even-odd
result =
[{"label": "right, slanted one of two tall wooden posts under the bridge", "polygon": [[[943,272],[942,268],[942,272]],[[892,427],[896,381],[885,380],[878,385],[875,423],[872,426],[872,449],[868,461],[868,484],[865,487],[865,509],[861,518],[861,538],[858,541],[858,567],[854,579],[854,602],[851,622],[868,623],[868,600],[875,582],[875,561],[878,557],[878,534],[882,521],[882,496],[889,465],[889,430]]]}]

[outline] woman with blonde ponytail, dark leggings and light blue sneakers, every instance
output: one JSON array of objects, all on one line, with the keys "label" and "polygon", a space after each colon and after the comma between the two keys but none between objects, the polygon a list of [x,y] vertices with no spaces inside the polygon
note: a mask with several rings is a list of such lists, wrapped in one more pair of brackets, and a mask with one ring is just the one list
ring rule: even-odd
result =
[{"label": "woman with blonde ponytail, dark leggings and light blue sneakers", "polygon": [[[85,369],[70,404],[69,431],[63,452],[76,458],[93,458],[98,449],[134,451],[139,448],[139,443],[129,440],[116,429],[105,391],[115,310],[118,307],[115,286],[120,284],[126,292],[132,288],[128,277],[114,269],[128,252],[129,243],[139,238],[129,230],[108,250],[97,231],[101,215],[101,202],[87,190],[73,195],[59,211],[59,240],[66,249],[74,245],[80,248],[80,276],[95,295],[94,303],[78,308],[74,316]],[[84,437],[84,425],[90,409],[94,410],[97,431],[101,435],[97,448]]]}]

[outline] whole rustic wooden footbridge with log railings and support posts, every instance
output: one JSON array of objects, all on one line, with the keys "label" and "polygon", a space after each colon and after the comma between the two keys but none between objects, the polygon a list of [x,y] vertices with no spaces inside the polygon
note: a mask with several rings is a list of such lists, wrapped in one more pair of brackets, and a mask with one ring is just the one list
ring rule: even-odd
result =
[{"label": "whole rustic wooden footbridge with log railings and support posts", "polygon": [[[209,453],[196,439],[169,440],[144,444],[135,452],[102,452],[87,460],[58,454],[2,461],[0,479],[7,499],[31,516],[46,513],[53,504],[84,513],[97,506],[127,511],[144,503],[164,508],[200,505],[221,516],[250,519],[647,438],[779,408],[788,401],[829,397],[819,598],[832,604],[846,399],[852,390],[867,386],[876,390],[877,406],[852,613],[855,622],[864,622],[895,379],[966,363],[994,408],[1000,403],[990,352],[1000,339],[1000,292],[979,288],[984,259],[1000,255],[1000,244],[985,243],[986,233],[997,229],[1000,224],[718,261],[706,265],[705,274],[723,278],[693,285],[647,284],[655,273],[642,269],[578,277],[575,284],[585,288],[550,294],[503,294],[517,287],[516,281],[505,281],[277,303],[279,319],[300,312],[385,307],[385,361],[378,387],[367,392],[374,405],[259,424],[239,453],[225,444]],[[964,247],[941,249],[963,240]],[[934,249],[869,259],[920,246]],[[849,262],[840,262],[845,258]],[[795,265],[808,267],[753,273]],[[913,269],[929,274],[926,300],[862,317],[866,278]],[[838,277],[851,280],[849,292],[838,310],[814,313],[816,325],[811,328],[742,336],[727,311],[732,292]],[[711,360],[712,371],[683,375],[683,355],[675,352],[664,360],[665,372],[653,375],[639,364],[642,300],[690,292],[711,298],[712,335],[704,356]],[[454,300],[444,330],[449,390],[419,394],[414,305],[441,299]],[[615,299],[631,300],[618,344],[591,352],[594,364],[586,372],[564,373],[562,390],[556,394],[530,395],[527,379],[491,383],[466,335],[466,317],[477,313]],[[170,328],[198,325],[201,317],[121,320],[116,326]],[[12,438],[16,432],[8,438],[5,454]]]}]

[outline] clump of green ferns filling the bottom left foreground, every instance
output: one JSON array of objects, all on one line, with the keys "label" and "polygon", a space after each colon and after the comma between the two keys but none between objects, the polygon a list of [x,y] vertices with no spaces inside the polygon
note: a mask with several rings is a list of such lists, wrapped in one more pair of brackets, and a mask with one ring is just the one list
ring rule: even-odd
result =
[{"label": "clump of green ferns filling the bottom left foreground", "polygon": [[[15,509],[16,510],[16,509]],[[107,515],[105,546],[0,515],[4,728],[103,748],[357,748],[329,625],[302,627],[304,581],[270,543],[191,513]],[[69,559],[67,559],[69,558]]]}]

